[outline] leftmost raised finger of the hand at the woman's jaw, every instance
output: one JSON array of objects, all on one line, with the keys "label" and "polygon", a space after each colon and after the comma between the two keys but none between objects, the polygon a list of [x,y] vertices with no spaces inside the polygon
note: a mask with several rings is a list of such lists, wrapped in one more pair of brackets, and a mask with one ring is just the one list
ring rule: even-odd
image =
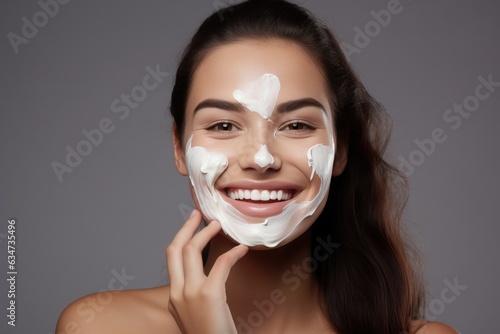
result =
[{"label": "leftmost raised finger of the hand at the woman's jaw", "polygon": [[184,265],[182,260],[182,248],[193,237],[196,229],[201,224],[201,215],[198,210],[193,210],[191,216],[181,227],[179,232],[167,247],[167,268],[172,288],[180,288],[184,285]]}]

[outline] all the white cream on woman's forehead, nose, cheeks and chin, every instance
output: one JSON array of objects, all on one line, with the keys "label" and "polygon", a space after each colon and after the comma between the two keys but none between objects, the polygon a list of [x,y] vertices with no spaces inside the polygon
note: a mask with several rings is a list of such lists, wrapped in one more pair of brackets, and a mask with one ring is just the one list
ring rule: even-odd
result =
[{"label": "all the white cream on woman's forehead, nose, cheeks and chin", "polygon": [[[256,81],[233,92],[237,102],[248,110],[258,113],[270,121],[280,90],[280,82],[274,74],[264,74]],[[307,217],[311,216],[328,194],[335,156],[335,141],[331,115],[323,114],[328,129],[328,145],[317,144],[308,149],[308,166],[311,167],[310,180],[315,174],[321,184],[318,193],[310,201],[292,200],[275,216],[263,218],[260,223],[248,223],[245,215],[226,202],[215,189],[217,178],[228,167],[224,153],[208,151],[204,147],[191,147],[192,136],[186,145],[186,162],[189,178],[193,185],[200,209],[209,220],[218,220],[223,231],[236,242],[247,246],[263,245],[275,247],[289,236]],[[276,136],[274,136],[274,140]],[[261,144],[255,153],[254,162],[264,168],[274,163],[274,157],[267,145]]]}]

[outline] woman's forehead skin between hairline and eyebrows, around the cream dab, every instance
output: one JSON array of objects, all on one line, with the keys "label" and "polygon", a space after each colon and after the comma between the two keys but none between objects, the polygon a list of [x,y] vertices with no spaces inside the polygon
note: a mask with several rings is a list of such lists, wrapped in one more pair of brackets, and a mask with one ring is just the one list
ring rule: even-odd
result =
[{"label": "woman's forehead skin between hairline and eyebrows, around the cream dab", "polygon": [[325,79],[313,58],[285,40],[244,40],[211,50],[196,69],[187,112],[204,99],[233,100],[232,93],[264,73],[281,83],[278,101],[313,97],[328,105]]}]

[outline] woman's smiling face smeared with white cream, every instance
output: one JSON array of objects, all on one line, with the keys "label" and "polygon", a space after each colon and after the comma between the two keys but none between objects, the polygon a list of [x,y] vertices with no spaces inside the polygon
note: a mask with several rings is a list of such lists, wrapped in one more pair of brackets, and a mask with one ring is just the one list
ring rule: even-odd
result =
[{"label": "woman's smiling face smeared with white cream", "polygon": [[335,136],[325,79],[302,47],[217,47],[194,73],[185,113],[177,166],[207,221],[267,247],[311,226],[326,202]]}]

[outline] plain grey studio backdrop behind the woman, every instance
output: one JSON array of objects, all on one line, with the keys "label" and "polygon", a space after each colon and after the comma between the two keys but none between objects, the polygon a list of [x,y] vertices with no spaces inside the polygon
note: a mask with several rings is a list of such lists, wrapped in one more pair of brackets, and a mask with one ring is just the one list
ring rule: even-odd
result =
[{"label": "plain grey studio backdrop behind the woman", "polygon": [[[142,84],[147,66],[174,73],[196,27],[222,3],[72,1],[16,54],[7,34],[21,34],[22,17],[32,21],[41,9],[36,1],[1,2],[2,271],[10,217],[18,238],[17,326],[2,315],[2,333],[53,333],[62,309],[106,289],[114,270],[135,276],[126,289],[165,282],[164,249],[192,207],[186,180],[175,171],[165,116],[173,75],[126,119],[110,106]],[[364,30],[370,11],[389,1],[299,3],[354,44],[354,28]],[[462,333],[494,333],[500,88],[456,130],[443,114],[474,94],[479,76],[500,81],[500,5],[401,0],[401,6],[351,62],[394,118],[394,161],[416,157],[415,140],[433,129],[445,132],[447,140],[410,176],[407,225],[427,270],[429,315]],[[115,130],[59,182],[51,163],[64,163],[66,145],[75,148],[81,131],[103,118]],[[467,288],[444,303],[444,282],[455,279]]]}]

